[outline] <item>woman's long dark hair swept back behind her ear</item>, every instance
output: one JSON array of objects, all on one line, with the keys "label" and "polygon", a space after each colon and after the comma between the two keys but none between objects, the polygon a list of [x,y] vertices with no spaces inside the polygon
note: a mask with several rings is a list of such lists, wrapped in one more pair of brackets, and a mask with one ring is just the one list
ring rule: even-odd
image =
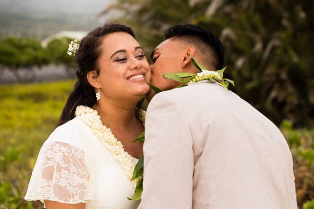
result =
[{"label": "woman's long dark hair swept back behind her ear", "polygon": [[95,90],[87,81],[87,73],[95,70],[97,74],[99,74],[97,61],[102,50],[104,50],[100,47],[102,40],[105,35],[115,32],[126,32],[135,39],[133,30],[130,27],[117,23],[105,23],[104,26],[97,27],[89,32],[81,40],[80,47],[74,56],[74,60],[78,64],[76,71],[77,82],[63,107],[57,126],[63,125],[73,119],[77,106],[85,105],[92,107],[96,103]]}]

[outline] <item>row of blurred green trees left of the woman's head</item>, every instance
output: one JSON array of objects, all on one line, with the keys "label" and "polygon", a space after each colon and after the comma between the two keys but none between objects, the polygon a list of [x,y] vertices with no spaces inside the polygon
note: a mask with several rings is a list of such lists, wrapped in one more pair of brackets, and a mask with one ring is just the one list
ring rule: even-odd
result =
[{"label": "row of blurred green trees left of the woman's head", "polygon": [[0,40],[0,77],[3,67],[9,68],[19,82],[35,79],[34,67],[46,64],[63,65],[65,72],[72,77],[75,71],[73,56],[67,54],[70,38],[50,41],[47,47],[36,39],[5,37]]}]

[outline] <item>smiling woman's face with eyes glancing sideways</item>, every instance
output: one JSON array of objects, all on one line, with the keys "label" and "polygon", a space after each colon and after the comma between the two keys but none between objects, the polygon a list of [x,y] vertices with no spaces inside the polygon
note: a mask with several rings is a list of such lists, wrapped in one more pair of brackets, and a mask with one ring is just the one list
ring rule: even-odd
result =
[{"label": "smiling woman's face with eyes glancing sideways", "polygon": [[99,58],[101,94],[114,100],[140,100],[149,91],[150,67],[140,44],[124,32],[102,41]]}]

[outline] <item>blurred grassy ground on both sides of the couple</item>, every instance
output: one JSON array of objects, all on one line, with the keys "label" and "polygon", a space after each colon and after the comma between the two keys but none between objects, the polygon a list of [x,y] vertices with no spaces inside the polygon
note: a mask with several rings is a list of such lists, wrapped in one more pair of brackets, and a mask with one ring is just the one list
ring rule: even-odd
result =
[{"label": "blurred grassy ground on both sides of the couple", "polygon": [[[42,143],[54,129],[74,81],[0,85],[0,209],[42,208],[22,198]],[[314,198],[314,131],[281,130],[293,153],[298,205]],[[314,209],[314,201],[304,209]]]}]

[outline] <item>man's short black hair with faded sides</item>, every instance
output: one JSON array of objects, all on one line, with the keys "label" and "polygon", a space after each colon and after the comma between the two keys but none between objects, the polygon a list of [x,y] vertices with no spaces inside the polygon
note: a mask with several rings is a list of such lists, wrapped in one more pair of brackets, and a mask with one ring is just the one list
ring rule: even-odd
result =
[{"label": "man's short black hair with faded sides", "polygon": [[215,34],[205,28],[192,24],[174,25],[166,30],[164,41],[167,39],[194,44],[202,53],[204,64],[213,66],[214,70],[224,66],[224,46]]}]

